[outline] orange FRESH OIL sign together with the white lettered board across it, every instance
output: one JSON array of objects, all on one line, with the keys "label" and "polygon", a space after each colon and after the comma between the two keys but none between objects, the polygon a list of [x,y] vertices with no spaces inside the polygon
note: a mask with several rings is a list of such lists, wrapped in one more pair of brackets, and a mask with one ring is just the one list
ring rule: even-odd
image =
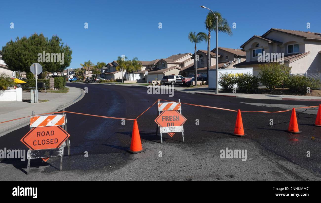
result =
[{"label": "orange FRESH OIL sign together with the white lettered board across it", "polygon": [[186,118],[176,110],[167,110],[160,113],[155,119],[155,122],[160,126],[161,133],[168,133],[173,137],[175,132],[183,132],[183,124]]}]

